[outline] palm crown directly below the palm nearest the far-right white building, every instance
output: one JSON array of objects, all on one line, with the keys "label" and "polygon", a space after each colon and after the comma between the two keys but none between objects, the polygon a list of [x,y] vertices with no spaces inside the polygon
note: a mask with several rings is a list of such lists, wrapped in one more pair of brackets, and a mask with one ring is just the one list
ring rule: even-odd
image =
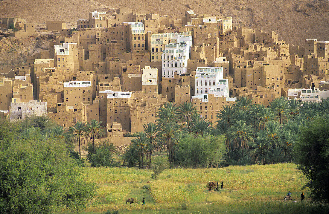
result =
[{"label": "palm crown directly below the palm nearest the far-right white building", "polygon": [[280,136],[282,134],[282,126],[274,121],[270,121],[265,125],[264,133],[266,134],[266,142],[268,144],[268,148],[274,148],[276,146],[280,146],[281,139]]}]

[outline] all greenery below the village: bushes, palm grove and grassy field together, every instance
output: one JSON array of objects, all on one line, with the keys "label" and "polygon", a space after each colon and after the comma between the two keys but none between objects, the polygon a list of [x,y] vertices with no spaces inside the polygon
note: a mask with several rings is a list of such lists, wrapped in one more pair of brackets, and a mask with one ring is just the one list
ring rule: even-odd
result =
[{"label": "all greenery below the village: bushes, palm grove and grassy field together", "polygon": [[[328,213],[329,99],[266,108],[240,97],[217,116],[213,126],[191,103],[166,103],[122,156],[95,144],[98,121],[0,120],[0,212]],[[283,201],[288,191],[296,203]]]}]

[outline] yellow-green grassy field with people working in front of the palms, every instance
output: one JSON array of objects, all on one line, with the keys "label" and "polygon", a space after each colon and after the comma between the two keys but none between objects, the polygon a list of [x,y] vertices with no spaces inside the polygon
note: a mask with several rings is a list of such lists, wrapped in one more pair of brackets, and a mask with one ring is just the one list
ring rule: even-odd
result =
[{"label": "yellow-green grassy field with people working in front of the palms", "polygon": [[[87,167],[84,175],[100,188],[81,213],[328,213],[328,206],[311,204],[305,191],[306,201],[300,202],[304,178],[294,164],[168,169],[157,180],[138,168]],[[223,190],[209,192],[211,180],[223,181]],[[297,202],[283,201],[288,191]],[[129,197],[138,202],[125,204]]]}]

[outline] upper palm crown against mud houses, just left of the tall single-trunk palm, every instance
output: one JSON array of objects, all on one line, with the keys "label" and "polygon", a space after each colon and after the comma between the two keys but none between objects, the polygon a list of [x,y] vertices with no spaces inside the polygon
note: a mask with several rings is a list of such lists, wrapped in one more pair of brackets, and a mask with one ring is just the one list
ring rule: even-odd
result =
[{"label": "upper palm crown against mud houses, just left of the tall single-trunk palm", "polygon": [[155,121],[161,124],[174,122],[178,118],[177,109],[178,107],[176,107],[176,104],[173,104],[173,102],[165,103],[164,107],[159,108],[156,115],[158,119]]}]

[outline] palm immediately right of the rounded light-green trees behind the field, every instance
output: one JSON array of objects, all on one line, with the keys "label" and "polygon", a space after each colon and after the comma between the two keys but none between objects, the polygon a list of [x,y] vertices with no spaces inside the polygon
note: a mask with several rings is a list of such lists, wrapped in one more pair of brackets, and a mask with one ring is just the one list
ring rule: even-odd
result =
[{"label": "palm immediately right of the rounded light-green trees behind the field", "polygon": [[239,120],[230,128],[230,139],[233,140],[233,148],[248,149],[248,143],[253,142],[252,128],[245,121]]}]

